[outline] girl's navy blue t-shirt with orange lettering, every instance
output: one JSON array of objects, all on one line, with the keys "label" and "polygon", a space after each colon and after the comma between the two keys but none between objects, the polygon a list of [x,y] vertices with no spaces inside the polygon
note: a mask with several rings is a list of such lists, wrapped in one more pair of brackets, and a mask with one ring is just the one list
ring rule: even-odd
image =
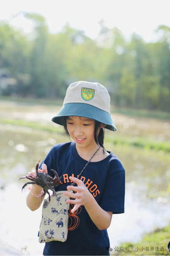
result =
[{"label": "girl's navy blue t-shirt with orange lettering", "polygon": [[[107,152],[109,155],[105,159],[88,163],[80,180],[103,210],[113,214],[124,213],[125,169],[118,157],[110,151]],[[61,191],[67,190],[67,186],[71,185],[69,176],[77,178],[87,162],[79,156],[73,141],[54,145],[39,168],[41,169],[43,163],[46,164],[48,174],[53,178],[54,173],[50,170],[57,171],[61,185],[55,187],[55,191]],[[100,231],[82,205],[76,216],[69,214],[67,240],[45,242],[43,255],[109,256],[107,246],[110,246],[107,229]]]}]

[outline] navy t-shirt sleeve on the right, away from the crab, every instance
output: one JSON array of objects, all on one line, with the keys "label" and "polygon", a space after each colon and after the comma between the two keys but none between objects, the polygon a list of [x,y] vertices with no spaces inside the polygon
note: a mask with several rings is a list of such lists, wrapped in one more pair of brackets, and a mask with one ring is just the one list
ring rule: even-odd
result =
[{"label": "navy t-shirt sleeve on the right, away from the crab", "polygon": [[100,207],[113,214],[125,212],[125,169],[119,159],[111,160],[100,199]]}]

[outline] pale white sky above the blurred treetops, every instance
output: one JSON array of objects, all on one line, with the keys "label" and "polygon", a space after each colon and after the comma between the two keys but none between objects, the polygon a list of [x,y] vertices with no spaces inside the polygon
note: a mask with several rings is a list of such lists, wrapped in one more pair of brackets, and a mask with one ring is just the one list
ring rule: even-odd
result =
[{"label": "pale white sky above the blurred treetops", "polygon": [[[52,33],[70,26],[84,30],[95,39],[103,18],[108,28],[117,27],[128,39],[133,32],[145,42],[155,42],[154,30],[158,25],[170,26],[170,0],[5,0],[0,8],[0,20],[7,20],[24,32],[31,32],[33,24],[18,12],[42,14]],[[13,18],[12,18],[13,17]]]}]

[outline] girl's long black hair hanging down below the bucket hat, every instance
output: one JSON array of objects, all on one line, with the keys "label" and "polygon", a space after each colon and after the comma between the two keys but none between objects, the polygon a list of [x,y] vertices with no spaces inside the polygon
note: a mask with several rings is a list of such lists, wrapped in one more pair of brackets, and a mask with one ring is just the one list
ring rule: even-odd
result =
[{"label": "girl's long black hair hanging down below the bucket hat", "polygon": [[[70,134],[67,129],[67,118],[68,116],[63,117],[63,127],[66,131],[66,135],[70,139]],[[80,118],[81,119],[81,118]],[[103,148],[103,153],[106,152],[106,149],[104,148],[104,129],[100,128],[99,135],[97,137],[97,130],[100,127],[101,122],[98,122],[95,120],[95,131],[94,131],[94,139],[97,145],[100,145]]]}]

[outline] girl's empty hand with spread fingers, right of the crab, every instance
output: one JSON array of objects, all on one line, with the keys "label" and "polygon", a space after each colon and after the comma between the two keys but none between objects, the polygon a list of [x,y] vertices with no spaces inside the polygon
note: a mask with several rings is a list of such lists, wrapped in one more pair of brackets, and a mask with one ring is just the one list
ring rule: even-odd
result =
[{"label": "girl's empty hand with spread fingers, right of the crab", "polygon": [[75,204],[75,207],[71,210],[71,212],[75,212],[81,205],[86,206],[92,198],[93,195],[88,191],[87,187],[84,185],[82,180],[79,180],[75,177],[70,176],[69,177],[71,181],[77,183],[77,187],[74,186],[67,186],[68,190],[76,191],[77,193],[70,193],[70,192],[63,192],[64,195],[69,196],[70,198],[75,198],[75,200],[68,199],[67,203]]}]

